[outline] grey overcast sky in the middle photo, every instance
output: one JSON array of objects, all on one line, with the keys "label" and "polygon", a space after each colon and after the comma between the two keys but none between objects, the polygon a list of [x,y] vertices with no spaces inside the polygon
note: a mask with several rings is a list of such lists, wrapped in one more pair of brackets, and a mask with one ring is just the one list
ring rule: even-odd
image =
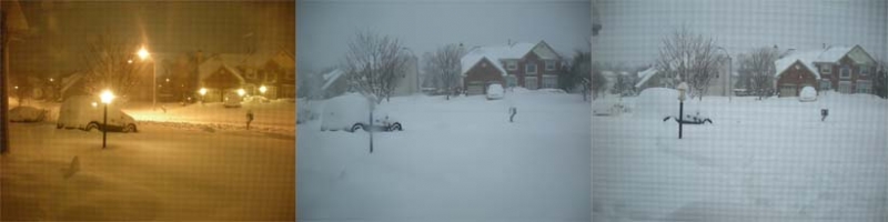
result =
[{"label": "grey overcast sky in the middle photo", "polygon": [[[357,31],[398,38],[417,56],[447,43],[545,40],[555,50],[588,51],[588,0],[334,0],[296,3],[299,69],[320,71],[345,58]],[[569,57],[569,54],[568,54]]]}]

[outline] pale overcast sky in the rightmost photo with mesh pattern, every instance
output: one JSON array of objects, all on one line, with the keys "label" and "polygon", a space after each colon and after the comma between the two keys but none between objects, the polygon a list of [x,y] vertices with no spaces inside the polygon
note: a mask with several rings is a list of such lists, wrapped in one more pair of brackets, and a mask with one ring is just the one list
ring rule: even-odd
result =
[{"label": "pale overcast sky in the rightmost photo with mesh pattern", "polygon": [[888,60],[888,0],[596,0],[603,29],[594,59],[653,63],[663,37],[680,29],[714,38],[733,57],[756,47],[860,44]]}]

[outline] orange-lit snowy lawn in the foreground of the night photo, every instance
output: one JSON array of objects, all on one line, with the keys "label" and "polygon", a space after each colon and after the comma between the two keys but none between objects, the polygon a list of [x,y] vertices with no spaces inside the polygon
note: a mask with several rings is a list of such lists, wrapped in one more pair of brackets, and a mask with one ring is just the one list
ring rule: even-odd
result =
[{"label": "orange-lit snowy lawn in the foreground of the night photo", "polygon": [[0,157],[0,215],[295,219],[293,134],[189,125],[142,122],[139,133],[108,133],[103,150],[98,131],[57,130],[52,121],[12,123],[11,152]]}]

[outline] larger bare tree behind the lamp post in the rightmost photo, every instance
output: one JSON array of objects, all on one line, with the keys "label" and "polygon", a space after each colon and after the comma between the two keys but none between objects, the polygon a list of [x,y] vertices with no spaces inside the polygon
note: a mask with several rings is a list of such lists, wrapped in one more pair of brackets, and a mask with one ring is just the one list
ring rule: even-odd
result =
[{"label": "larger bare tree behind the lamp post in the rightmost photo", "polygon": [[699,97],[709,88],[715,79],[723,57],[717,56],[715,41],[694,34],[684,27],[670,37],[663,39],[663,48],[656,65],[667,80],[667,87],[678,85],[682,81],[690,87],[690,95]]}]

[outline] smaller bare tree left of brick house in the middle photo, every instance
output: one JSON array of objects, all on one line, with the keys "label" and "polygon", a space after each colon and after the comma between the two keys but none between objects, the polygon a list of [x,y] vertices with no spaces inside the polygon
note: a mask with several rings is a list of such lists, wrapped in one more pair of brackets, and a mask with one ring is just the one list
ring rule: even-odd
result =
[{"label": "smaller bare tree left of brick house in the middle photo", "polygon": [[[452,91],[460,85],[462,64],[460,60],[465,56],[465,50],[457,44],[447,44],[438,48],[435,53],[426,58],[427,73],[432,74],[438,87]],[[447,100],[452,93],[447,93]]]}]

